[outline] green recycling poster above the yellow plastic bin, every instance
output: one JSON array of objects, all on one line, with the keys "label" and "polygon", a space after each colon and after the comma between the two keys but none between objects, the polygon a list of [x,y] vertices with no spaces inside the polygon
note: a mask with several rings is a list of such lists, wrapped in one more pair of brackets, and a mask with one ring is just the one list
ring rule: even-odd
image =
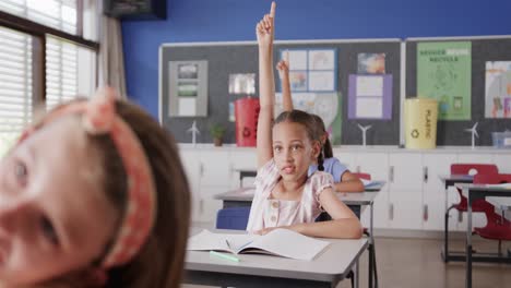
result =
[{"label": "green recycling poster above the yellow plastic bin", "polygon": [[417,96],[438,100],[439,120],[471,120],[472,44],[419,43]]}]

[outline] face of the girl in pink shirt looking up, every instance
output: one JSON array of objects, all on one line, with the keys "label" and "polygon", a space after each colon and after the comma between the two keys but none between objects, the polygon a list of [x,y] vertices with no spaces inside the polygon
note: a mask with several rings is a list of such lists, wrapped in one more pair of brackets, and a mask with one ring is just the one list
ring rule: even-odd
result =
[{"label": "face of the girl in pink shirt looking up", "polygon": [[309,166],[319,154],[319,143],[312,142],[302,124],[284,121],[273,127],[273,157],[284,180],[298,181],[307,177]]}]

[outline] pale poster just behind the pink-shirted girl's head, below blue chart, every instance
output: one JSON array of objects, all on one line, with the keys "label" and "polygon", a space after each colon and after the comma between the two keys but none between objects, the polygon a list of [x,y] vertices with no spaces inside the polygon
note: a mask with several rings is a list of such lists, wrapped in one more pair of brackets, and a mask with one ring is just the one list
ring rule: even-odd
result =
[{"label": "pale poster just behind the pink-shirted girl's head, below blue chart", "polygon": [[[293,107],[321,117],[332,144],[341,144],[341,96],[338,93],[293,93]],[[282,93],[275,94],[275,118],[283,111]]]}]

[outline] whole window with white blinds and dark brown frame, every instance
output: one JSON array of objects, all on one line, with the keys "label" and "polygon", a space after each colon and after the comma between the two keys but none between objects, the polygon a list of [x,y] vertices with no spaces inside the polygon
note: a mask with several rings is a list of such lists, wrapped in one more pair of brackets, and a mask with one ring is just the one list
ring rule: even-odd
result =
[{"label": "whole window with white blinds and dark brown frame", "polygon": [[0,156],[35,107],[95,89],[98,45],[82,37],[97,35],[94,2],[0,0]]}]

